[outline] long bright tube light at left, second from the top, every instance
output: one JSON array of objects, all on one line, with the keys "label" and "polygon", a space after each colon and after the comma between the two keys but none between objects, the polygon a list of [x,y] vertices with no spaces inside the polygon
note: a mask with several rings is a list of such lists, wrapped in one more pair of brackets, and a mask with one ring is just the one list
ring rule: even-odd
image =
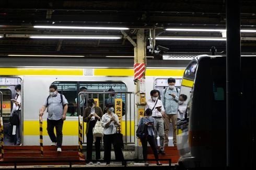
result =
[{"label": "long bright tube light at left, second from the top", "polygon": [[121,39],[122,36],[113,35],[30,35],[31,39]]}]

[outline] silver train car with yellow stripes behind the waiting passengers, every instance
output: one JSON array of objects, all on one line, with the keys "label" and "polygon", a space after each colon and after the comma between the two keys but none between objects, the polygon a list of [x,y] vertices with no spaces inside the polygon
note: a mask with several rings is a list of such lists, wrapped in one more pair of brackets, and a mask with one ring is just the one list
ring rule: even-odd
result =
[{"label": "silver train car with yellow stripes behind the waiting passengers", "polygon": [[[159,67],[155,67],[157,60],[153,63],[155,63],[153,67],[150,67],[149,64],[146,70],[147,98],[150,98],[149,93],[152,89],[162,90],[167,87],[169,77],[176,78],[181,82],[184,71],[182,67],[168,68],[161,67],[160,64]],[[63,145],[78,145],[79,114],[75,98],[77,98],[79,88],[86,87],[88,95],[90,95],[90,92],[106,92],[109,88],[113,88],[120,93],[135,91],[133,67],[122,67],[121,65],[114,67],[114,64],[108,65],[108,67],[16,66],[0,68],[0,91],[3,92],[4,97],[2,116],[4,118],[5,145],[14,144],[10,137],[9,116],[12,108],[10,99],[14,99],[14,87],[17,84],[21,84],[22,145],[39,145],[39,109],[49,96],[49,86],[51,84],[57,85],[58,91],[65,95],[69,103],[67,118],[63,125]],[[177,86],[180,86],[179,83],[177,84]],[[124,98],[123,100],[127,110],[125,111],[126,116],[122,118],[122,124],[127,126],[122,128],[122,132],[124,136],[131,136],[131,139],[125,140],[126,143],[134,145],[134,110],[132,109],[135,107],[134,98]],[[130,100],[132,101],[130,102]],[[102,100],[99,101],[99,104],[101,103]],[[44,145],[50,145],[51,141],[46,131],[46,115],[43,115],[43,143]],[[85,138],[86,136],[84,136]]]}]

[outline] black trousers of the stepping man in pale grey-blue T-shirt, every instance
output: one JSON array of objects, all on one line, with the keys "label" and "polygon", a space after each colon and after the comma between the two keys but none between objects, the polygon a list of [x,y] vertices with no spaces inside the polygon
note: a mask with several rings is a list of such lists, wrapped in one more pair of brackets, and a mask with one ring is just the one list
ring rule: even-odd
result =
[{"label": "black trousers of the stepping man in pale grey-blue T-shirt", "polygon": [[[56,129],[56,136],[54,134],[54,127]],[[52,142],[57,142],[57,148],[62,146],[62,127],[63,120],[49,120],[47,119],[47,131]]]}]

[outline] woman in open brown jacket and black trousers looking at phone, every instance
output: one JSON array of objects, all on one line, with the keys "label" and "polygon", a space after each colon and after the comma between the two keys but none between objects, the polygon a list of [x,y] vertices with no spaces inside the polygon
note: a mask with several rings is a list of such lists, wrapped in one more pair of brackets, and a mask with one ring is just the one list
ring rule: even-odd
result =
[{"label": "woman in open brown jacket and black trousers looking at phone", "polygon": [[[86,122],[86,139],[87,139],[87,152],[86,152],[86,159],[89,160],[89,164],[92,165],[92,144],[94,142],[94,135],[92,130],[95,127],[95,124],[100,117],[102,117],[102,110],[100,107],[95,105],[94,99],[88,99],[88,107],[85,108],[84,111],[84,122]],[[100,159],[100,140],[101,137],[95,137],[95,149],[96,149],[96,160],[97,164],[99,165]]]}]

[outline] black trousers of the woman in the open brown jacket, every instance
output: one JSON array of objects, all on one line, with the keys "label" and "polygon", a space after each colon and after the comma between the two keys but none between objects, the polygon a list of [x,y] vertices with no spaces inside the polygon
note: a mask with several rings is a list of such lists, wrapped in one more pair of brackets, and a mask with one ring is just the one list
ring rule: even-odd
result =
[{"label": "black trousers of the woman in the open brown jacket", "polygon": [[[91,160],[92,154],[92,144],[94,143],[94,135],[92,134],[92,129],[95,126],[95,120],[90,121],[88,133],[86,133],[87,139],[87,152],[86,152],[86,159]],[[96,150],[96,160],[100,159],[100,140],[101,137],[96,137],[95,150]]]}]

